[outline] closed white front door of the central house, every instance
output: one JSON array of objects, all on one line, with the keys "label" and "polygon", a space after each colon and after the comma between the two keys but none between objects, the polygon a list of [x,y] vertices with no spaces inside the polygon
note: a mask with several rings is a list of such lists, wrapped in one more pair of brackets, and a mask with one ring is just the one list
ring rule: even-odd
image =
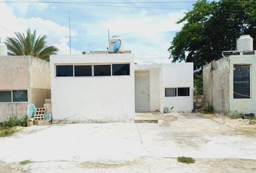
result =
[{"label": "closed white front door of the central house", "polygon": [[149,71],[135,72],[135,110],[150,110]]}]

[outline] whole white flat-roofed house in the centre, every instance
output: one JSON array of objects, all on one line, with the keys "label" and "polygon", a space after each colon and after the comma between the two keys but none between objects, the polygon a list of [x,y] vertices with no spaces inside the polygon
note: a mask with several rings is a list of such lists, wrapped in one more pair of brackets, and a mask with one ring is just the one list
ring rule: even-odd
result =
[{"label": "whole white flat-roofed house in the centre", "polygon": [[50,63],[55,122],[129,122],[135,110],[192,110],[193,63],[135,65],[130,51],[54,55]]}]

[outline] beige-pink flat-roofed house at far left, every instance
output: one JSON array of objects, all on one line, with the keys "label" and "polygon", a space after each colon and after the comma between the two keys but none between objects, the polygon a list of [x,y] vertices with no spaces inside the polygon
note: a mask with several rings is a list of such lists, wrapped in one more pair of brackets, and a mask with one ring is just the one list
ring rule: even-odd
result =
[{"label": "beige-pink flat-roofed house at far left", "polygon": [[0,56],[0,122],[27,115],[51,98],[49,63],[31,56]]}]

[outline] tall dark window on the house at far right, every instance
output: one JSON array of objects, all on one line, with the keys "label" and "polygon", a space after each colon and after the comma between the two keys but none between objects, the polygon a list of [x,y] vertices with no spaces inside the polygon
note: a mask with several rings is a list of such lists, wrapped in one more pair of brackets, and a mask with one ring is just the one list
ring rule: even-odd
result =
[{"label": "tall dark window on the house at far right", "polygon": [[234,99],[250,98],[249,65],[234,65]]}]

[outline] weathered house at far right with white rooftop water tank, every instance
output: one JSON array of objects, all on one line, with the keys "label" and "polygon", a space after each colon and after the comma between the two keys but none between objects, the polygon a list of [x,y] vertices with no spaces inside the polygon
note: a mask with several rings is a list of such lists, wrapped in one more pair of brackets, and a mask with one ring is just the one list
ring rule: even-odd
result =
[{"label": "weathered house at far right with white rooftop water tank", "polygon": [[217,112],[256,113],[256,52],[252,37],[242,35],[237,50],[203,66],[205,103]]}]

